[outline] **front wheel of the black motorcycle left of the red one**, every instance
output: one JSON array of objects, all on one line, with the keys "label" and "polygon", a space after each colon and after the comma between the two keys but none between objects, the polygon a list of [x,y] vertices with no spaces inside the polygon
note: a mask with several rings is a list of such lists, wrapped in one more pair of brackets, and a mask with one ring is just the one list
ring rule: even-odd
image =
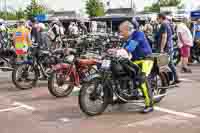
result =
[{"label": "front wheel of the black motorcycle left of the red one", "polygon": [[39,72],[29,64],[19,65],[12,72],[13,83],[21,90],[33,88],[37,84],[38,77]]}]

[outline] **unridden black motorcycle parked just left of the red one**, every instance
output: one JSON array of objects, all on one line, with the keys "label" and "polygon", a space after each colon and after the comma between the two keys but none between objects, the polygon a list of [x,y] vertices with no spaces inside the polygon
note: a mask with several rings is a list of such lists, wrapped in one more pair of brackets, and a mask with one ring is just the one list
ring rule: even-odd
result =
[{"label": "unridden black motorcycle parked just left of the red one", "polygon": [[[64,50],[47,51],[39,46],[28,50],[28,59],[24,60],[12,72],[12,81],[19,89],[30,89],[38,80],[47,80],[52,65],[62,61]],[[21,84],[23,83],[23,84]]]}]

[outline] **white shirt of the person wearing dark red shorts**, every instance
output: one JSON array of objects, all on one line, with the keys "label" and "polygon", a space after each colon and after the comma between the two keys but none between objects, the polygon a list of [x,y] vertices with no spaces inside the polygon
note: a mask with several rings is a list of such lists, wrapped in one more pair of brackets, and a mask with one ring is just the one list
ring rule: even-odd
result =
[{"label": "white shirt of the person wearing dark red shorts", "polygon": [[184,24],[180,23],[177,25],[177,34],[180,34],[182,37],[182,41],[180,37],[178,36],[178,46],[179,48],[183,46],[193,46],[193,37],[192,33],[190,32],[189,28]]}]

